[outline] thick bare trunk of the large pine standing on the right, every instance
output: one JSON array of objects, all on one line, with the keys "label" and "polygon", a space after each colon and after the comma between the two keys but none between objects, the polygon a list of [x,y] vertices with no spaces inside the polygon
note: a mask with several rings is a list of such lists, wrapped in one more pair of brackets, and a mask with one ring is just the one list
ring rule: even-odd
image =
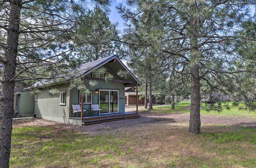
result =
[{"label": "thick bare trunk of the large pine standing on the right", "polygon": [[199,134],[201,128],[200,121],[200,76],[199,63],[197,60],[201,54],[198,49],[198,35],[197,35],[197,20],[190,21],[191,35],[190,35],[190,59],[191,59],[191,105],[190,105],[190,120],[188,131],[190,133]]}]

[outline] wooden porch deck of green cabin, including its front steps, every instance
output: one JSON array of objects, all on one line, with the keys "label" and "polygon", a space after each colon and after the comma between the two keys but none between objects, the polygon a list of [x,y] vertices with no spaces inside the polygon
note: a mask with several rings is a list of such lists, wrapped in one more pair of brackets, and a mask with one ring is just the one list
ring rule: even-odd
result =
[{"label": "wooden porch deck of green cabin, including its front steps", "polygon": [[126,119],[135,119],[135,118],[140,118],[140,115],[137,113],[115,113],[115,114],[107,114],[107,115],[99,115],[99,116],[89,116],[89,117],[84,117],[82,119],[72,117],[70,119],[80,119],[82,122],[82,125],[89,125],[89,124],[97,124],[97,123],[126,120]]}]

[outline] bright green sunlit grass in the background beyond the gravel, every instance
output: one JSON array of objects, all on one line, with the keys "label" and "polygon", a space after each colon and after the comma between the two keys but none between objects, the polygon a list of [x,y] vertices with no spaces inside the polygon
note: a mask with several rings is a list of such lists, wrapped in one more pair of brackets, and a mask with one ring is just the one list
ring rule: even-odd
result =
[{"label": "bright green sunlit grass in the background beyond the gravel", "polygon": [[[171,106],[159,106],[154,107],[154,110],[151,112],[153,113],[177,113],[177,112],[185,112],[189,113],[190,109],[185,109],[184,107],[188,106],[190,102],[180,102],[178,103],[178,106],[175,106],[175,109],[170,109]],[[256,117],[256,111],[247,111],[247,110],[239,110],[237,106],[232,106],[232,102],[228,103],[228,106],[230,109],[227,109],[225,104],[227,102],[222,102],[222,111],[218,112],[216,110],[206,110],[207,108],[201,109],[202,115],[215,115],[215,116],[239,116],[239,117]],[[206,107],[204,103],[201,104],[201,106]],[[243,106],[240,104],[240,106]],[[145,111],[147,109],[140,109],[141,111]]]}]

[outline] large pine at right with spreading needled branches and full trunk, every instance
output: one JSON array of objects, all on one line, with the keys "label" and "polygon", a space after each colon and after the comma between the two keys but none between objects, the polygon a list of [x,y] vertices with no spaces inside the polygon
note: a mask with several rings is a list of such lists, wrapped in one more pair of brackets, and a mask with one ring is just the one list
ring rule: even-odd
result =
[{"label": "large pine at right with spreading needled branches and full trunk", "polygon": [[[255,74],[255,69],[251,68],[255,59],[251,61],[238,51],[238,46],[255,40],[255,34],[248,36],[243,27],[247,21],[254,22],[249,14],[252,4],[254,1],[135,0],[128,1],[128,6],[117,7],[128,25],[124,38],[118,41],[130,48],[157,48],[156,55],[166,55],[163,63],[174,61],[179,65],[178,73],[190,76],[188,130],[191,133],[201,132],[202,80],[210,88],[232,94],[236,89],[243,90],[241,85],[227,87],[234,78],[245,73]],[[211,83],[222,85],[212,86]],[[247,97],[241,101],[253,102],[255,99]]]}]

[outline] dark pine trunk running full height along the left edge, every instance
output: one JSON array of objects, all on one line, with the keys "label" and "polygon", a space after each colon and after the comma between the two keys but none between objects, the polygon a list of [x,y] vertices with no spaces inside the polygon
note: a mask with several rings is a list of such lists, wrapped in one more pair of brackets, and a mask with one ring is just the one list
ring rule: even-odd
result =
[{"label": "dark pine trunk running full height along the left edge", "polygon": [[10,79],[15,75],[21,2],[22,0],[10,1],[10,18],[3,65],[3,90],[0,93],[0,167],[9,167],[15,85],[14,80],[10,81]]}]

